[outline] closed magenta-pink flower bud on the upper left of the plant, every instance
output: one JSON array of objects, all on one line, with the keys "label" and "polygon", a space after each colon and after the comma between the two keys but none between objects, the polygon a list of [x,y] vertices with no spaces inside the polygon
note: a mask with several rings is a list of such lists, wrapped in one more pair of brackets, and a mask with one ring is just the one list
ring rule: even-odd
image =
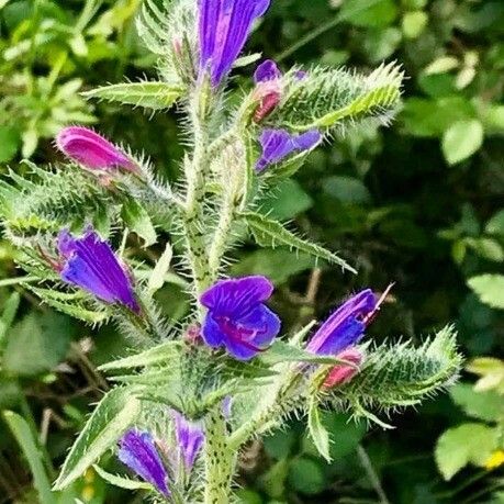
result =
[{"label": "closed magenta-pink flower bud on the upper left of the plant", "polygon": [[90,170],[137,170],[137,166],[115,145],[87,127],[63,128],[56,136],[56,145],[70,159]]}]

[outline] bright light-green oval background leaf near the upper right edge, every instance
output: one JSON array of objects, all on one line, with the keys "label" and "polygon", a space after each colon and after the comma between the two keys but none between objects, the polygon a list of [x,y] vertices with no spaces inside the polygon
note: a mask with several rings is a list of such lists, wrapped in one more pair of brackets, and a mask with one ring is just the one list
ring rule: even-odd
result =
[{"label": "bright light-green oval background leaf near the upper right edge", "polygon": [[483,145],[480,121],[457,121],[443,135],[443,154],[449,165],[457,165],[472,156]]}]

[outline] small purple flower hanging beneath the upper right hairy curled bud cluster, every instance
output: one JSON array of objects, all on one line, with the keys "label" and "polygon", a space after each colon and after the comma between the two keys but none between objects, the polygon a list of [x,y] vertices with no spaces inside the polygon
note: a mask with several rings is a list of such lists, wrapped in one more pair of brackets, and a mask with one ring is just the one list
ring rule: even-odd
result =
[{"label": "small purple flower hanging beneath the upper right hairy curled bud cluster", "polygon": [[285,130],[265,130],[259,138],[262,155],[256,164],[256,170],[262,171],[269,165],[279,163],[292,153],[310,150],[322,141],[317,130],[294,136]]}]

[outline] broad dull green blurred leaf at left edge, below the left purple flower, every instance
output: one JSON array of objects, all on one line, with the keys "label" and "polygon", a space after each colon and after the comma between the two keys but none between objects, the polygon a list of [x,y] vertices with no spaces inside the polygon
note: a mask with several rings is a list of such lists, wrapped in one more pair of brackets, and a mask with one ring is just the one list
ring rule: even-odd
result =
[{"label": "broad dull green blurred leaf at left edge, below the left purple flower", "polygon": [[75,326],[54,312],[31,312],[9,332],[3,367],[16,376],[52,370],[66,356]]}]

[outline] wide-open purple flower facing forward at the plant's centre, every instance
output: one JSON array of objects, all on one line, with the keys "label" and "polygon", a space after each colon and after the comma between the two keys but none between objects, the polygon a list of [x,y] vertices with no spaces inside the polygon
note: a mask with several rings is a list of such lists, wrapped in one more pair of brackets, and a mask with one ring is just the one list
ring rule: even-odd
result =
[{"label": "wide-open purple flower facing forward at the plant's centre", "polygon": [[209,309],[203,339],[212,348],[224,346],[238,360],[249,360],[266,349],[280,332],[280,318],[264,301],[273,285],[265,277],[221,280],[201,295]]}]

